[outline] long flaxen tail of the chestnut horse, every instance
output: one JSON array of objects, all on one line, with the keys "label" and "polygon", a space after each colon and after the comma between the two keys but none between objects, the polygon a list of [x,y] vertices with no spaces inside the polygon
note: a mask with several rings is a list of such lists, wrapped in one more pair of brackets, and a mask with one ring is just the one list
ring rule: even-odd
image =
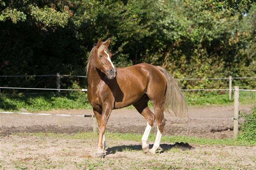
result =
[{"label": "long flaxen tail of the chestnut horse", "polygon": [[171,113],[169,106],[171,106],[173,113],[177,117],[188,117],[187,104],[185,97],[180,92],[178,83],[174,78],[167,72],[166,69],[161,66],[156,66],[166,77],[166,92],[164,97],[164,111]]}]

